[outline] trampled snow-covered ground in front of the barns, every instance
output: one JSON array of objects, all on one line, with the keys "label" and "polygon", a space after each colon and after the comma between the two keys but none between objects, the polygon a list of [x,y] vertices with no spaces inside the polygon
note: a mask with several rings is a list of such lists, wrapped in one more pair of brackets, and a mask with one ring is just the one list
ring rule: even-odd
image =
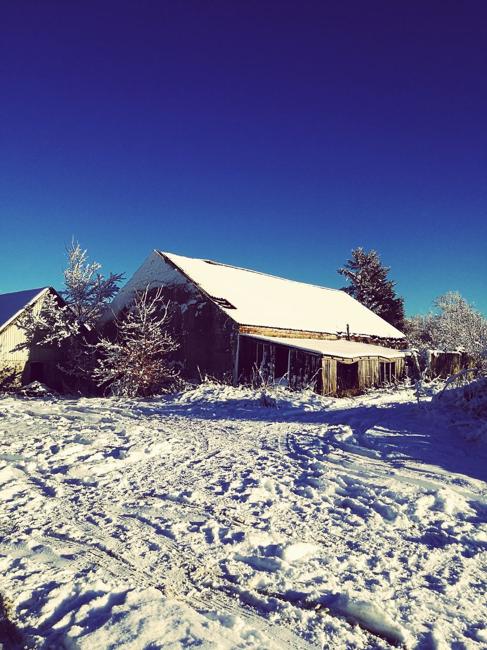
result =
[{"label": "trampled snow-covered ground in front of the barns", "polygon": [[486,648],[481,417],[278,406],[1,397],[4,649]]}]

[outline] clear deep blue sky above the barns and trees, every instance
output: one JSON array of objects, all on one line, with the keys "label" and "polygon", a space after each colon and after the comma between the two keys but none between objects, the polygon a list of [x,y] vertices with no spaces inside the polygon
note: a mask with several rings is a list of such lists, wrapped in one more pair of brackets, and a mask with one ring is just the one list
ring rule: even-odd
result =
[{"label": "clear deep blue sky above the barns and trees", "polygon": [[0,292],[153,248],[487,313],[487,2],[5,0]]}]

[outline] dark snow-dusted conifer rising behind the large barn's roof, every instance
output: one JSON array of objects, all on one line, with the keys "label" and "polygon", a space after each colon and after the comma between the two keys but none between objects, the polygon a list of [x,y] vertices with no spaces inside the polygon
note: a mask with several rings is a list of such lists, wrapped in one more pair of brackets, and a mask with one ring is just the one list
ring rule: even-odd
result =
[{"label": "dark snow-dusted conifer rising behind the large barn's roof", "polygon": [[352,259],[338,269],[338,273],[349,282],[342,291],[401,330],[405,319],[404,298],[394,291],[396,283],[387,279],[391,267],[382,266],[380,255],[375,250],[365,253],[359,246],[351,253]]}]

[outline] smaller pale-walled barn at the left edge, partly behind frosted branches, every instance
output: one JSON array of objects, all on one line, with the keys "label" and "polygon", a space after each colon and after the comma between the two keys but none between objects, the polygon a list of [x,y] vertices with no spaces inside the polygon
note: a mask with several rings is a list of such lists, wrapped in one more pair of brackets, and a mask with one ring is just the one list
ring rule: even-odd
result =
[{"label": "smaller pale-walled barn at the left edge, partly behind frosted branches", "polygon": [[66,304],[53,287],[0,294],[0,387],[38,381],[60,389],[60,348],[52,344],[38,345],[34,340],[29,347],[14,350],[26,341],[25,332],[17,327],[19,319],[30,307],[34,313],[39,313],[42,302],[49,293],[56,296],[60,305]]}]

